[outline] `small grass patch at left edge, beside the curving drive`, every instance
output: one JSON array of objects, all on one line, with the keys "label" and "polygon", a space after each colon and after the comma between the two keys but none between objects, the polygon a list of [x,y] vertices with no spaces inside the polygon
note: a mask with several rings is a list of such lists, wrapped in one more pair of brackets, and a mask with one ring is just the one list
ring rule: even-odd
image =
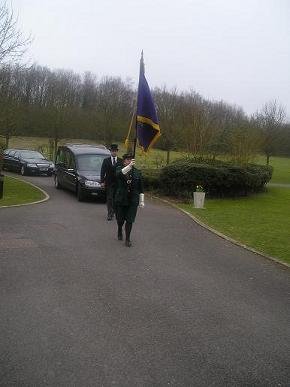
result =
[{"label": "small grass patch at left edge, beside the curving drive", "polygon": [[15,204],[31,203],[44,199],[44,194],[30,184],[5,176],[4,194],[0,199],[0,207]]}]

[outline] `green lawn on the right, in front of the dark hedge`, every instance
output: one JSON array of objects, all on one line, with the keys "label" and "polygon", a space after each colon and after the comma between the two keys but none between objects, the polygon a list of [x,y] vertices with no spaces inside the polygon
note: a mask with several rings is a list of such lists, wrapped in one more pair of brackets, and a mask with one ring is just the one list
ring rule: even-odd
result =
[{"label": "green lawn on the right, in front of the dark hedge", "polygon": [[290,263],[290,188],[239,199],[206,199],[205,209],[179,206],[233,239]]}]

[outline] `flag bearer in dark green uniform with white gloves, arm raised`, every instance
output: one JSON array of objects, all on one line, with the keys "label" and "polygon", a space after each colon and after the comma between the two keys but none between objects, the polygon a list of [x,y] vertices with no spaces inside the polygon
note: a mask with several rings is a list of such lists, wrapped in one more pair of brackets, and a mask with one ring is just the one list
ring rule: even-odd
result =
[{"label": "flag bearer in dark green uniform with white gloves, arm raised", "polygon": [[130,234],[135,221],[137,208],[144,207],[143,178],[141,172],[134,166],[133,156],[126,153],[123,156],[123,166],[116,170],[116,219],[118,223],[118,239],[123,240],[123,225],[125,223],[125,245],[131,247]]}]

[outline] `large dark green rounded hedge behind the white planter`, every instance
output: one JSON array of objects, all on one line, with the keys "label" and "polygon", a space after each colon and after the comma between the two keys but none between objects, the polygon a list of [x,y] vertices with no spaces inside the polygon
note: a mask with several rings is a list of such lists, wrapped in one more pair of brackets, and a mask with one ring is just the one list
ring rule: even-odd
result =
[{"label": "large dark green rounded hedge behind the white planter", "polygon": [[160,188],[166,195],[191,197],[197,185],[208,195],[242,196],[264,189],[272,177],[272,167],[255,164],[233,165],[221,161],[177,160],[160,173]]}]

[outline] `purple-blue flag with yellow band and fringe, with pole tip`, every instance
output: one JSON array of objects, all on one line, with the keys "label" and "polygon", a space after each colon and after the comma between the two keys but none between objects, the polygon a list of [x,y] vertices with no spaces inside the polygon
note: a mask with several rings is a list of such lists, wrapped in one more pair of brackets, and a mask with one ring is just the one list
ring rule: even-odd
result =
[{"label": "purple-blue flag with yellow band and fringe, with pole tip", "polygon": [[144,152],[147,152],[160,137],[160,127],[155,105],[145,78],[143,51],[140,61],[137,95],[136,136]]}]

